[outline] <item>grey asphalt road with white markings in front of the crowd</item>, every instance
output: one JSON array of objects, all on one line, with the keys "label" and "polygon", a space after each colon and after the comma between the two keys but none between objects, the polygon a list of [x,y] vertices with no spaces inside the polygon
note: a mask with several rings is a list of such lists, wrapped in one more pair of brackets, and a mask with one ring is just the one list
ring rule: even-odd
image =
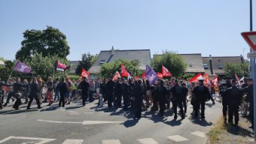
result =
[{"label": "grey asphalt road with white markings in front of the crowd", "polygon": [[139,121],[133,113],[111,108],[96,107],[96,101],[82,107],[81,103],[65,108],[46,106],[38,110],[32,104],[14,111],[9,104],[0,110],[0,143],[5,144],[157,144],[206,143],[206,135],[221,114],[221,104],[206,104],[206,119],[191,117],[192,107],[187,107],[184,120],[174,120],[172,110],[164,117],[149,110]]}]

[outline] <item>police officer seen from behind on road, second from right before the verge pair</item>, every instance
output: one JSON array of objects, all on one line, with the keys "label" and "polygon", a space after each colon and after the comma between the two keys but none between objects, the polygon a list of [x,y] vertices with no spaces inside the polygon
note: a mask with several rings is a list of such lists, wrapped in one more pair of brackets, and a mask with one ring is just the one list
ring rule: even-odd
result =
[{"label": "police officer seen from behind on road, second from right before the verge pair", "polygon": [[181,118],[185,118],[182,106],[182,87],[178,85],[178,80],[175,80],[175,86],[172,87],[170,92],[172,92],[173,96],[174,118],[177,118],[177,107],[180,108]]}]

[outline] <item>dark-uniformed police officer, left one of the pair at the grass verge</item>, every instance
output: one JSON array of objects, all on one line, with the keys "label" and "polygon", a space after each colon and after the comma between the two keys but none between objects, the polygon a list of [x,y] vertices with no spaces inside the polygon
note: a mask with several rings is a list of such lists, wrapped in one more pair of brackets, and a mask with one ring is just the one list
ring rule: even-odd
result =
[{"label": "dark-uniformed police officer, left one of the pair at the grass verge", "polygon": [[222,83],[220,86],[221,89],[221,97],[222,97],[222,113],[223,113],[223,117],[224,117],[224,124],[227,123],[227,97],[226,95],[224,95],[224,91],[228,88],[231,87],[231,83],[230,83],[231,78],[227,77],[226,83]]}]

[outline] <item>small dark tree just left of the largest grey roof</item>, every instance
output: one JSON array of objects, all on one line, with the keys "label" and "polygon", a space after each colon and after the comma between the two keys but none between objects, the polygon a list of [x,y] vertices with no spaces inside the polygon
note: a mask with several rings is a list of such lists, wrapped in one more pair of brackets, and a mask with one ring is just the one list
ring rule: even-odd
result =
[{"label": "small dark tree just left of the largest grey roof", "polygon": [[85,70],[89,70],[89,68],[93,65],[96,61],[97,55],[91,55],[90,53],[84,53],[82,55],[82,60],[79,62],[78,68],[75,70],[75,74],[80,76],[82,68]]}]

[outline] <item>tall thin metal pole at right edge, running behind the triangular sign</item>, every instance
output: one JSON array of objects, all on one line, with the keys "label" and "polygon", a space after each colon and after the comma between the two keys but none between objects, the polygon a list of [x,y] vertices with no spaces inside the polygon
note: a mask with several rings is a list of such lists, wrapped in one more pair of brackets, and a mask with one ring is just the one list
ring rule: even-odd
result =
[{"label": "tall thin metal pole at right edge, running behind the triangular sign", "polygon": [[[252,0],[250,0],[250,31],[252,31]],[[253,50],[251,49],[251,52],[253,52]],[[255,52],[255,51],[254,51]],[[255,130],[256,130],[256,66],[255,66],[255,58],[251,58],[250,59],[250,65],[251,65],[251,77],[253,79],[253,102],[254,102],[254,113],[253,113],[253,116],[254,116],[254,142],[256,142],[256,133],[255,133]]]}]

